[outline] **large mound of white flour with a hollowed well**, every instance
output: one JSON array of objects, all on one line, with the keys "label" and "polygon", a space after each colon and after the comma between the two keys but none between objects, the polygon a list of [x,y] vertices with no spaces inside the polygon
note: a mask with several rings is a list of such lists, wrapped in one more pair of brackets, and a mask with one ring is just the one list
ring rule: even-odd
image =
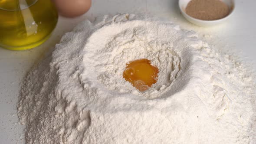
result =
[{"label": "large mound of white flour with a hollowed well", "polygon": [[[18,115],[28,144],[256,144],[256,85],[197,33],[132,14],[84,21],[25,78]],[[126,63],[149,59],[139,92]]]}]

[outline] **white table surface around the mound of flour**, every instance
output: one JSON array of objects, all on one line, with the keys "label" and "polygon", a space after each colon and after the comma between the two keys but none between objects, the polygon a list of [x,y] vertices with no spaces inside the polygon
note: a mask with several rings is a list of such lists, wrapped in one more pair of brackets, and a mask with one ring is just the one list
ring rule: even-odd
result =
[{"label": "white table surface around the mound of flour", "polygon": [[[69,19],[59,17],[50,39],[35,49],[10,51],[0,48],[0,144],[24,143],[23,128],[18,123],[16,103],[19,84],[26,72],[45,52],[59,42],[61,36],[82,20],[118,13],[145,13],[164,17],[185,29],[195,30],[200,36],[210,35],[209,43],[241,51],[243,59],[256,63],[256,0],[236,0],[235,13],[226,23],[214,27],[195,26],[181,15],[178,0],[92,0],[92,7],[83,16]],[[1,32],[0,32],[1,34]],[[256,68],[255,65],[252,65]]]}]

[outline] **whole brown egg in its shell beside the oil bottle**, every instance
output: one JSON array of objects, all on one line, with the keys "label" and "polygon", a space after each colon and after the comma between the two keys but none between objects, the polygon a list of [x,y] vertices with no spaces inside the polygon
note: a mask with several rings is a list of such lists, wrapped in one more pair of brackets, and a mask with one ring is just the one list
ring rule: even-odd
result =
[{"label": "whole brown egg in its shell beside the oil bottle", "polygon": [[62,16],[75,17],[86,13],[92,4],[91,0],[53,0]]}]

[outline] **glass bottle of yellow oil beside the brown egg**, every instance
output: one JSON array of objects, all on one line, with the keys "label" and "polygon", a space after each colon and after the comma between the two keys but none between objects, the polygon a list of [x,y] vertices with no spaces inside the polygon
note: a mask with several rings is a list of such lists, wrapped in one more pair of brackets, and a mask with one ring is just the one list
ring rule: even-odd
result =
[{"label": "glass bottle of yellow oil beside the brown egg", "polygon": [[25,50],[39,46],[57,21],[51,0],[0,0],[0,47]]}]

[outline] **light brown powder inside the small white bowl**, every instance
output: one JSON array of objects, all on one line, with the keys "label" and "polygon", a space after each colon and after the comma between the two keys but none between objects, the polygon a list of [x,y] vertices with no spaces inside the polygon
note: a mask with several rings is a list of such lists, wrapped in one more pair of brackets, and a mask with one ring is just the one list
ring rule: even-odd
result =
[{"label": "light brown powder inside the small white bowl", "polygon": [[218,20],[227,16],[230,10],[221,0],[191,0],[186,13],[200,20]]}]

